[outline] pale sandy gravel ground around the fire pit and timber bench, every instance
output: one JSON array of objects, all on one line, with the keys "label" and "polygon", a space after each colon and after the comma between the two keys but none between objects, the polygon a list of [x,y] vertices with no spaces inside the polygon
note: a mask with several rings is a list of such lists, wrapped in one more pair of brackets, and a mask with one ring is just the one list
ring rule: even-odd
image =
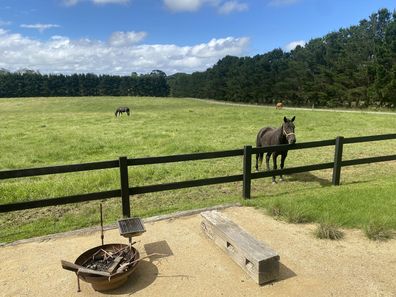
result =
[{"label": "pale sandy gravel ground around the fire pit and timber bench", "polygon": [[[314,225],[279,222],[249,207],[221,210],[279,255],[281,277],[259,286],[200,227],[199,214],[147,222],[136,237],[142,260],[128,282],[113,291],[95,292],[60,260],[74,262],[100,245],[100,231],[0,247],[0,296],[396,296],[396,240],[371,242],[347,230],[340,241],[315,239]],[[105,243],[127,243],[117,229]]]}]

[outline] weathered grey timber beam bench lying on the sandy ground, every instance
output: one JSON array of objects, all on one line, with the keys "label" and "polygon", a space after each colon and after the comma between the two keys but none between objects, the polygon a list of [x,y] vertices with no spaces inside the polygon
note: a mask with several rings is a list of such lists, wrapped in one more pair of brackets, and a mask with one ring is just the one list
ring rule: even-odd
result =
[{"label": "weathered grey timber beam bench lying on the sandy ground", "polygon": [[259,285],[279,277],[279,255],[220,212],[201,213],[205,234]]}]

